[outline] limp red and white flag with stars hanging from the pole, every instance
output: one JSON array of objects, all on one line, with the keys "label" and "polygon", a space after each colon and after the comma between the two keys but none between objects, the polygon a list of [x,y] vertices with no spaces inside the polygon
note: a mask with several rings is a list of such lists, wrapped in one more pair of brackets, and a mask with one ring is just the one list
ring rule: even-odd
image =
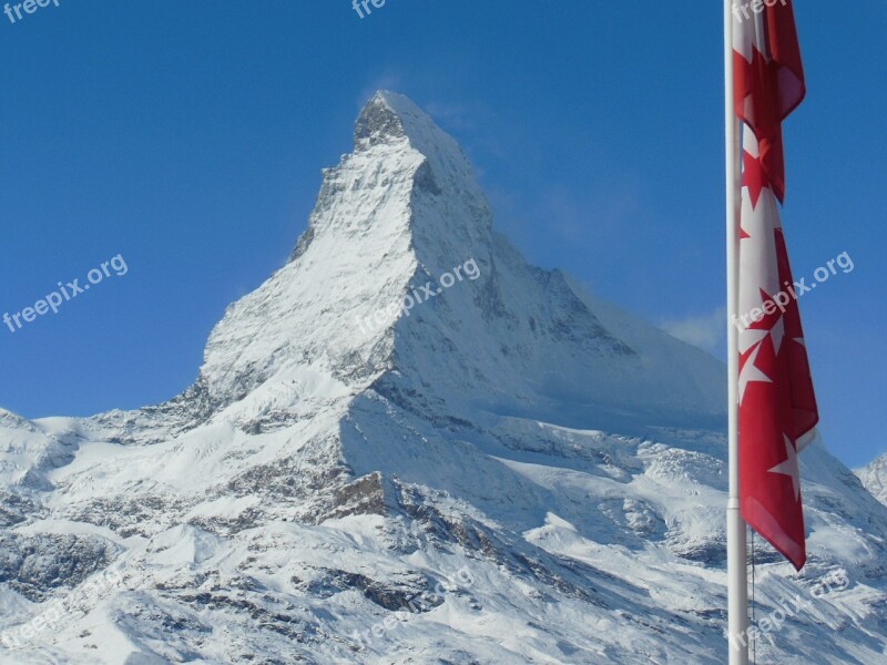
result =
[{"label": "limp red and white flag with stars hanging from the pole", "polygon": [[[791,0],[734,12],[744,123],[740,216],[740,495],[745,521],[797,570],[806,561],[797,454],[819,417],[779,222],[782,121],[806,92]],[[772,7],[771,7],[772,4]],[[734,352],[733,350],[731,352]]]}]

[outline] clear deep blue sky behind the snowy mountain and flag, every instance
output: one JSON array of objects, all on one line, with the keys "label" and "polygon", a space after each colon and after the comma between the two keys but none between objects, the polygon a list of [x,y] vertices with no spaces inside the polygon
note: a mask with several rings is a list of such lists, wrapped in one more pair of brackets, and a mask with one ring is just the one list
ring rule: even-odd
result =
[{"label": "clear deep blue sky behind the snowy mountain and flag", "polygon": [[[0,315],[118,254],[129,267],[12,334],[0,405],[28,417],[165,400],[225,306],[288,256],[319,170],[378,88],[466,147],[495,224],[723,357],[716,2],[60,0],[0,14]],[[784,225],[826,443],[887,451],[887,4],[797,2],[808,98]]]}]

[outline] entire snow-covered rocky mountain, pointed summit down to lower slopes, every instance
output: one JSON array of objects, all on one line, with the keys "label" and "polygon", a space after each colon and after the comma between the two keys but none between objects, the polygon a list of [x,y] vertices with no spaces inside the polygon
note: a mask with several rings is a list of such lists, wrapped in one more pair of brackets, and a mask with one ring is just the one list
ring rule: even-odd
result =
[{"label": "entire snow-covered rocky mountain, pointed summit down to lower slopes", "polygon": [[[378,93],[183,395],[0,411],[0,663],[724,662],[723,367],[491,218]],[[822,444],[802,471],[758,662],[881,663],[887,508]]]}]

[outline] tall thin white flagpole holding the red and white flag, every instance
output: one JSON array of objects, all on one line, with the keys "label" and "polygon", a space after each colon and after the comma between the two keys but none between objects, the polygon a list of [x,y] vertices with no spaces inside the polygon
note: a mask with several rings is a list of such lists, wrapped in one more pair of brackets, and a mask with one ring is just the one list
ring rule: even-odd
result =
[{"label": "tall thin white flagpole holding the red and white flag", "polygon": [[745,520],[740,512],[738,314],[740,122],[733,103],[733,2],[724,0],[724,134],[727,234],[727,632],[730,665],[748,663],[748,579]]}]

